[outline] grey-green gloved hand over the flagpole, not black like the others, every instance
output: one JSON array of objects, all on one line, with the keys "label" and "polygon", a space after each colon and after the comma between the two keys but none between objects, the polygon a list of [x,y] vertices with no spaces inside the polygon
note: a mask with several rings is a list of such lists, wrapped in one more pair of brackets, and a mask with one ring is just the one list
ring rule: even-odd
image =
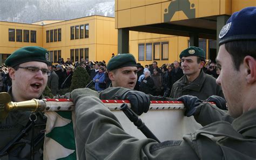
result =
[{"label": "grey-green gloved hand over the flagpole, not black like the others", "polygon": [[79,98],[86,97],[86,96],[99,97],[99,93],[89,88],[84,88],[84,89],[75,89],[70,94],[70,97],[72,98],[74,104],[76,104],[76,101]]}]

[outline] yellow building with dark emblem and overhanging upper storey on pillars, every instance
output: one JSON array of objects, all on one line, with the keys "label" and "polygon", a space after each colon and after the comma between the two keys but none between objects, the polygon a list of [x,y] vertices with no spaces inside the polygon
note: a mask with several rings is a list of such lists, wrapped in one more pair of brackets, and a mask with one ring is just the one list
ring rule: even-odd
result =
[{"label": "yellow building with dark emblem and overhanging upper storey on pillars", "polygon": [[179,60],[190,45],[202,47],[207,59],[214,60],[221,28],[233,12],[247,6],[256,1],[116,0],[118,53],[130,52],[142,64],[156,60],[161,66]]}]

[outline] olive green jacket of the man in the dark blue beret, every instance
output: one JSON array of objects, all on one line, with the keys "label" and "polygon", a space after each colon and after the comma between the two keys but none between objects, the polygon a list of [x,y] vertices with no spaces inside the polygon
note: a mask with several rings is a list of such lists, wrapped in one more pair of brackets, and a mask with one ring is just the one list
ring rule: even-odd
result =
[{"label": "olive green jacket of the man in the dark blue beret", "polygon": [[109,88],[98,94],[88,89],[76,101],[75,134],[79,159],[256,158],[256,110],[234,120],[225,111],[202,103],[195,118],[203,128],[186,134],[183,141],[157,143],[152,139],[138,140],[125,133],[117,118],[99,99],[115,99],[122,90],[125,89]]}]

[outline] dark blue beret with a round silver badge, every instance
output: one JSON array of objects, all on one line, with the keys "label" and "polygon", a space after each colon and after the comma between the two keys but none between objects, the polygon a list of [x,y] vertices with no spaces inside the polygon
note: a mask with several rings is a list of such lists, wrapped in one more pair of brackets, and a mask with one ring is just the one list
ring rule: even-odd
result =
[{"label": "dark blue beret with a round silver badge", "polygon": [[219,46],[237,40],[256,40],[256,7],[235,12],[220,31]]}]

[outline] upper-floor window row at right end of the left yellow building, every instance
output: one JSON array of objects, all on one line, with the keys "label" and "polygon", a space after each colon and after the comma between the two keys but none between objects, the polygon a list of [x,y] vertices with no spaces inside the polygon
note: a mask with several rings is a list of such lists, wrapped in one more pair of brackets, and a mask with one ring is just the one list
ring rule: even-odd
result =
[{"label": "upper-floor window row at right end of the left yellow building", "polygon": [[70,39],[89,38],[89,24],[70,27]]}]

